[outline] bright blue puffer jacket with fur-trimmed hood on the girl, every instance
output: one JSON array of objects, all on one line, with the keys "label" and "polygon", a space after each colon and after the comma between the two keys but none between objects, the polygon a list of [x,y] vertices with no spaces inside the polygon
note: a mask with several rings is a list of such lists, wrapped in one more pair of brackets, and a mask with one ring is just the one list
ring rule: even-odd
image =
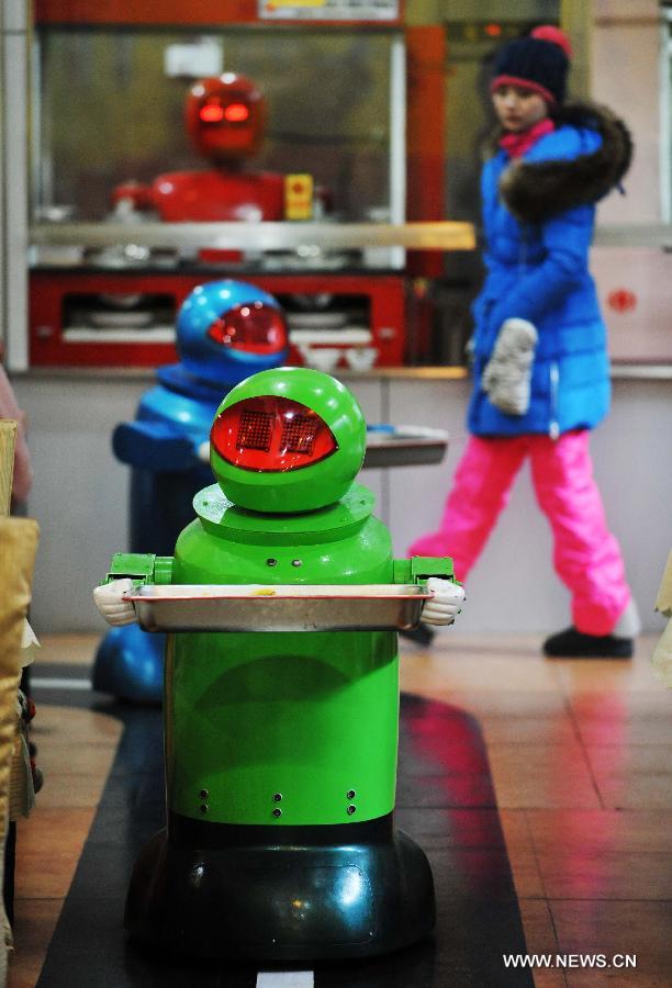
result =
[{"label": "bright blue puffer jacket with fur-trimmed hood on the girl", "polygon": [[[586,112],[578,116],[582,125],[561,123],[514,162],[500,149],[483,168],[488,273],[473,306],[468,413],[475,435],[557,436],[592,428],[608,411],[606,328],[587,261],[594,203],[619,181],[631,145],[619,121],[616,127],[595,108]],[[539,336],[523,416],[500,412],[481,390],[500,327],[515,316],[529,319]]]}]

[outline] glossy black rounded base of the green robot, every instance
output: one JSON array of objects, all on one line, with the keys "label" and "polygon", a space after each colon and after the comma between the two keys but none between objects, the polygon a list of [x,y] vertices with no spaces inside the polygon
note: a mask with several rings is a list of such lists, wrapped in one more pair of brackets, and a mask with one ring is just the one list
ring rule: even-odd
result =
[{"label": "glossy black rounded base of the green robot", "polygon": [[392,815],[363,823],[236,827],[170,816],[136,861],[133,940],[199,958],[370,957],[435,923],[422,849]]}]

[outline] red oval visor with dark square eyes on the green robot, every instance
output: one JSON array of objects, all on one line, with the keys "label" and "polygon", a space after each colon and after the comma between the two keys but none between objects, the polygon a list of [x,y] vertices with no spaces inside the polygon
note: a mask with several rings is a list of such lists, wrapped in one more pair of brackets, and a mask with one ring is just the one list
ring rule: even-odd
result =
[{"label": "red oval visor with dark square eyes on the green robot", "polygon": [[227,463],[258,472],[299,470],[338,449],[334,434],[316,412],[271,395],[225,408],[215,418],[210,438]]}]

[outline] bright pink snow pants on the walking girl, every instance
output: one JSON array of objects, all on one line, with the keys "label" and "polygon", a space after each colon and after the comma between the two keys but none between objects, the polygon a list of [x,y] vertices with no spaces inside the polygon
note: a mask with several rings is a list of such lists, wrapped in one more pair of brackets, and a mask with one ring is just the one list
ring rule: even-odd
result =
[{"label": "bright pink snow pants on the walking girl", "polygon": [[408,554],[451,555],[458,580],[467,580],[529,457],[537,501],[553,534],[553,565],[572,594],[573,624],[586,635],[608,635],[630,591],[618,542],[606,527],[589,438],[584,429],[557,440],[471,436],[439,530],[417,539]]}]

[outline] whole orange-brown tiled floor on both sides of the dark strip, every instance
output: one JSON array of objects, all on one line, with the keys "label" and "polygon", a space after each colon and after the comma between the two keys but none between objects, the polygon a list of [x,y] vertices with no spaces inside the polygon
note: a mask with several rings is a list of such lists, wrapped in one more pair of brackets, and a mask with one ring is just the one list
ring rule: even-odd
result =
[{"label": "whole orange-brown tiled floor on both sides of the dark strip", "polygon": [[[402,688],[480,723],[528,951],[637,955],[636,969],[537,969],[544,988],[672,986],[672,694],[649,672],[653,641],[632,662],[549,661],[537,639],[451,630],[430,651],[404,647]],[[46,639],[36,675],[67,662],[85,676],[94,643]],[[47,783],[19,827],[10,988],[36,983],[121,730],[102,712],[38,709]]]}]

